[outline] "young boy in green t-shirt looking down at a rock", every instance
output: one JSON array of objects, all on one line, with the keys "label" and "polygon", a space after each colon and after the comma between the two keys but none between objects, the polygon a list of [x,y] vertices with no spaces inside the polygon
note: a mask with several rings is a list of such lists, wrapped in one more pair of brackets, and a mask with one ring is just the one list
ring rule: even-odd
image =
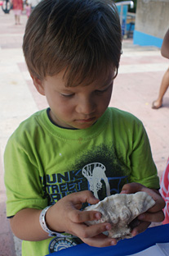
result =
[{"label": "young boy in green t-shirt looking down at a rock", "polygon": [[100,213],[82,211],[84,203],[110,194],[142,190],[155,199],[132,235],[163,220],[144,126],[108,107],[121,48],[112,1],[44,0],[29,17],[24,57],[49,108],[22,122],[5,152],[7,217],[24,240],[23,255],[42,256],[82,242],[116,245],[103,234],[110,223],[87,226]]}]

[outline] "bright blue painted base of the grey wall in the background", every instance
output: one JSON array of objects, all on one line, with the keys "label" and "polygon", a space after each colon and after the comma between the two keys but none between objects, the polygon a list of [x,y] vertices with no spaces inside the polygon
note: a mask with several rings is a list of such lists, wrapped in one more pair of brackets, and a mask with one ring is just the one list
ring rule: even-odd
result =
[{"label": "bright blue painted base of the grey wall in the background", "polygon": [[140,31],[134,30],[133,43],[141,46],[153,45],[158,48],[162,47],[162,39],[159,39],[153,35],[145,34]]}]

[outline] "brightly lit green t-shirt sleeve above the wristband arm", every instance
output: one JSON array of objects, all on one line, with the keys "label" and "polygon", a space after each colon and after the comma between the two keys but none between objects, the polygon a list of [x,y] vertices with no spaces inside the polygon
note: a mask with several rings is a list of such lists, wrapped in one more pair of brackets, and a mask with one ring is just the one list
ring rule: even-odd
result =
[{"label": "brightly lit green t-shirt sleeve above the wristband arm", "polygon": [[42,209],[47,198],[42,191],[38,162],[33,152],[24,149],[15,135],[11,136],[4,153],[7,217],[23,208]]}]

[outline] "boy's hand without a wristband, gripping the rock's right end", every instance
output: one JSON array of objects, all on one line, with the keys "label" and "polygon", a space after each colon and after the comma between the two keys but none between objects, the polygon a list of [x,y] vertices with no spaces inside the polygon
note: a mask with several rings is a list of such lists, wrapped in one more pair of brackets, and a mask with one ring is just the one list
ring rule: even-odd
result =
[{"label": "boy's hand without a wristband, gripping the rock's right end", "polygon": [[137,217],[139,225],[132,230],[132,235],[135,236],[147,229],[151,222],[162,222],[164,220],[164,214],[162,208],[165,207],[165,202],[158,190],[153,190],[141,185],[139,183],[129,183],[122,187],[121,194],[134,194],[138,191],[145,191],[152,196],[155,201],[155,205],[147,212],[140,214]]}]

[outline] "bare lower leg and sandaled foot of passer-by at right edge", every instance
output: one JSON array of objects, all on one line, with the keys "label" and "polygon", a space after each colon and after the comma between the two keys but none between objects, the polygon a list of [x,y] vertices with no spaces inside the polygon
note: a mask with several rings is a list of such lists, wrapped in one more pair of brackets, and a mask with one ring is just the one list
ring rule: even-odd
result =
[{"label": "bare lower leg and sandaled foot of passer-by at right edge", "polygon": [[153,101],[153,104],[152,104],[153,109],[158,109],[159,107],[162,107],[162,98],[164,94],[166,94],[168,87],[169,87],[169,68],[167,69],[167,71],[162,77],[162,83],[160,85],[158,98],[155,101]]}]

